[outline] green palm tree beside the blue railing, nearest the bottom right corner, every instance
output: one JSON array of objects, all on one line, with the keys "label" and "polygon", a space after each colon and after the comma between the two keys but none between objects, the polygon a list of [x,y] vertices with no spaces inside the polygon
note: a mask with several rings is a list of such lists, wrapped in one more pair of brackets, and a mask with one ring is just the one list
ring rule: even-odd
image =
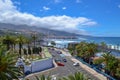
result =
[{"label": "green palm tree beside the blue railing, nearest the bottom right corner", "polygon": [[110,53],[105,53],[102,55],[102,58],[96,59],[94,63],[95,64],[103,63],[105,65],[105,68],[104,68],[105,71],[111,76],[115,76],[119,61]]}]

